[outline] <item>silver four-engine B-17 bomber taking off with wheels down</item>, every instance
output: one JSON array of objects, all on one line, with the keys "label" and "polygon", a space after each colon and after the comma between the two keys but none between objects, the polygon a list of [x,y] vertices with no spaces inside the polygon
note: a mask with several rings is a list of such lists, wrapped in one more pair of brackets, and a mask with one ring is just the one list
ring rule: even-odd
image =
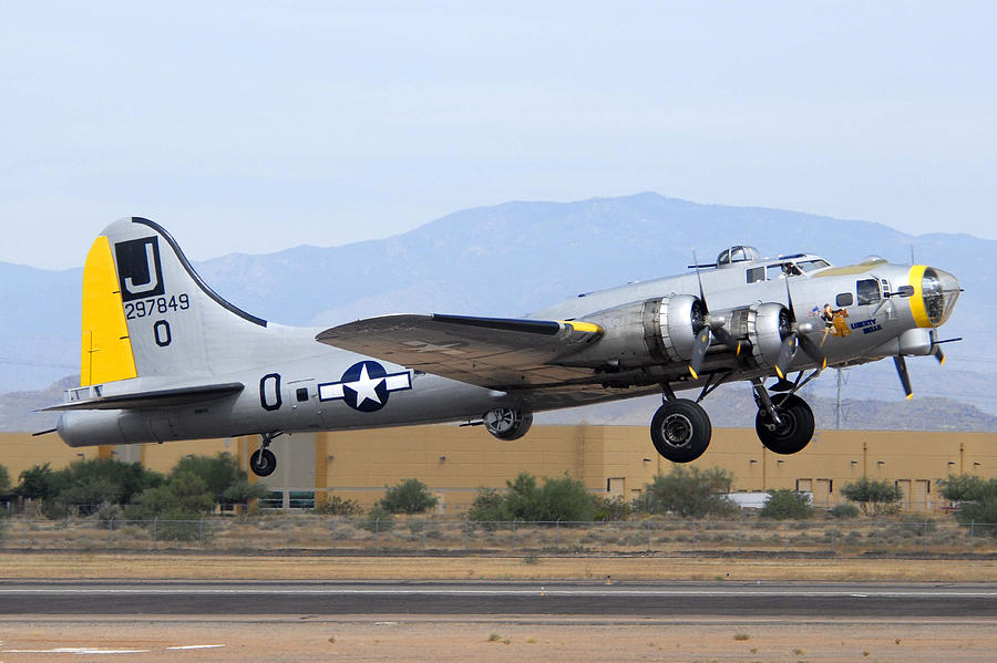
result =
[{"label": "silver four-engine B-17 bomber taking off with wheels down", "polygon": [[[752,384],[761,443],[794,454],[814,418],[798,391],[828,366],[944,361],[935,329],[956,278],[868,258],[762,258],[746,246],[688,273],[568,298],[523,319],[400,314],[331,329],[268,323],[219,297],[173,237],[132,217],[96,238],[83,273],[81,386],[59,435],[70,446],[259,435],[259,476],[284,434],[434,422],[481,424],[512,441],[533,413],[652,393],[665,458],[706,452],[699,402]],[[775,379],[769,386],[765,382]],[[693,400],[676,392],[697,390]]]}]

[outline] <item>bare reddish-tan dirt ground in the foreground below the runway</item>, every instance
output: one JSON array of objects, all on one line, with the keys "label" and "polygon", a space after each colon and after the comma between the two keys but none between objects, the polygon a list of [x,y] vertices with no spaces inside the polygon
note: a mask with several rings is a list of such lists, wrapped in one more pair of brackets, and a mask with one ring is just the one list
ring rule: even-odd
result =
[{"label": "bare reddish-tan dirt ground in the foreground below the runway", "polygon": [[[997,620],[737,623],[384,615],[308,621],[0,622],[0,661],[994,661]],[[174,648],[174,649],[169,649]],[[192,648],[192,649],[176,649]]]}]

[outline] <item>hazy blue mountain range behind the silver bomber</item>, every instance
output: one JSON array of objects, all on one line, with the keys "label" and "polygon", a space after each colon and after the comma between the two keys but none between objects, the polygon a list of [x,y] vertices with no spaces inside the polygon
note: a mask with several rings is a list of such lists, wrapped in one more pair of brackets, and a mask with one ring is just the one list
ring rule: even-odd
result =
[{"label": "hazy blue mountain range behind the silver bomber", "polygon": [[[154,220],[168,229],[169,219]],[[183,246],[184,238],[176,239]],[[326,327],[390,312],[522,315],[580,292],[681,273],[692,262],[692,246],[699,261],[708,262],[736,244],[767,256],[813,252],[837,265],[870,255],[903,263],[913,252],[918,263],[956,274],[965,292],[943,336],[965,341],[945,346],[952,361],[941,370],[929,358],[908,364],[916,393],[975,407],[983,416],[978,425],[990,429],[984,415],[997,415],[997,351],[975,330],[994,329],[997,302],[986,293],[997,286],[997,242],[968,235],[914,237],[868,221],[644,193],[513,201],[456,211],[388,239],[230,253],[195,267],[223,297],[254,314]],[[86,249],[80,247],[81,260]],[[79,366],[81,278],[80,268],[0,263],[0,392],[43,390]],[[832,396],[835,386],[835,380],[816,381],[814,397]],[[846,372],[845,396],[895,402],[903,394],[892,363],[877,362]]]}]

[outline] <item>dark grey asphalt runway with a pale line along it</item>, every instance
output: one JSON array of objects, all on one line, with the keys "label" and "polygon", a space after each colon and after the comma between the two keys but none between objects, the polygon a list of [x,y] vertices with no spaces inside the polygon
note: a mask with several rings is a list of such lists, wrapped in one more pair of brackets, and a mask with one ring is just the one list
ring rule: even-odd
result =
[{"label": "dark grey asphalt runway with a pale line along it", "polygon": [[988,618],[997,583],[2,581],[0,615]]}]

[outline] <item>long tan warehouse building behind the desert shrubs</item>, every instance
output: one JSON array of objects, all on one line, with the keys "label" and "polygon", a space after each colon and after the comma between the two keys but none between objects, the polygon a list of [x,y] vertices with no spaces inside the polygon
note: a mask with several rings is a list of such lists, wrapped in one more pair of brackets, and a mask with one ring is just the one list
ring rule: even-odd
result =
[{"label": "long tan warehouse building behind the desert shrubs", "polygon": [[[167,472],[188,454],[230,453],[247,467],[255,437],[71,448],[54,435],[0,434],[0,465],[11,479],[33,465],[53,468],[78,458],[115,457]],[[536,426],[516,442],[500,442],[482,428],[412,426],[280,437],[270,447],[277,472],[264,480],[282,494],[310,501],[328,494],[371,506],[386,485],[415,477],[439,497],[441,512],[460,516],[479,487],[505,487],[521,472],[538,477],[568,476],[592,491],[633,498],[670,464],[658,456],[644,426]],[[937,511],[947,506],[935,481],[968,473],[997,478],[997,434],[885,431],[821,431],[806,449],[777,456],[753,429],[716,428],[709,450],[695,463],[722,467],[734,490],[791,488],[813,494],[816,506],[842,501],[844,484],[862,476],[896,481],[904,508]]]}]

